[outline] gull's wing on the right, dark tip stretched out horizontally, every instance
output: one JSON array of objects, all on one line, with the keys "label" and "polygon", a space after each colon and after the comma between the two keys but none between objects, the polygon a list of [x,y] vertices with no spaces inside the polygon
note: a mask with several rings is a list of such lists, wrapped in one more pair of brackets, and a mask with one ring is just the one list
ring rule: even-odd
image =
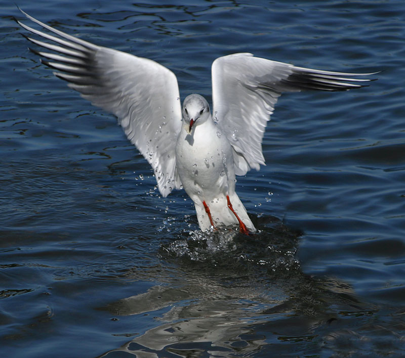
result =
[{"label": "gull's wing on the right, dark tip stretched out horizontally", "polygon": [[232,145],[236,174],[264,165],[263,134],[282,92],[347,91],[362,87],[358,82],[370,81],[350,76],[370,74],[295,67],[249,53],[217,58],[212,64],[213,114]]}]

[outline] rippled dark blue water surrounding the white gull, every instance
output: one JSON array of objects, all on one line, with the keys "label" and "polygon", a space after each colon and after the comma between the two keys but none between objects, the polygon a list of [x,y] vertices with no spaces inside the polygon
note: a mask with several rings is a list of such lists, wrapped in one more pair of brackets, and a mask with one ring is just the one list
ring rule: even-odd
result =
[{"label": "rippled dark blue water surrounding the white gull", "polygon": [[161,198],[115,118],[0,4],[1,357],[405,355],[403,1],[18,2],[169,67],[182,98],[211,101],[211,63],[235,52],[382,71],[281,96],[267,166],[236,184],[261,232],[234,238],[198,232],[183,191]]}]

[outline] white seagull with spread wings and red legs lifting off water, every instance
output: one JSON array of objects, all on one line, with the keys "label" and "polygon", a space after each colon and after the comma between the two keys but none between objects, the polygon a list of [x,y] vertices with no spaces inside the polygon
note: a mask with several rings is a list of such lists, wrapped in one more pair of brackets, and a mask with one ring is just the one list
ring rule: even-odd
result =
[{"label": "white seagull with spread wings and red legs lifting off water", "polygon": [[129,141],[153,168],[161,196],[184,189],[201,231],[238,226],[256,231],[235,192],[235,175],[265,165],[262,140],[282,92],[347,91],[364,86],[355,76],[315,70],[236,53],[212,64],[213,114],[207,100],[191,94],[180,102],[175,74],[147,58],[97,46],[22,14],[49,32],[24,23],[39,36],[23,36],[55,76],[103,110],[114,114]]}]

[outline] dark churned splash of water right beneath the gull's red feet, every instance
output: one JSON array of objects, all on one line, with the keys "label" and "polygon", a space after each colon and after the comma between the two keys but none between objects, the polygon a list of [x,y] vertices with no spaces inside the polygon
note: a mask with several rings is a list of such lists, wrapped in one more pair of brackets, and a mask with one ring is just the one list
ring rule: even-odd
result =
[{"label": "dark churned splash of water right beneath the gull's red feet", "polygon": [[[269,221],[269,217],[262,216],[261,221]],[[278,219],[262,229],[249,236],[240,234],[237,227],[187,231],[183,233],[187,238],[162,245],[159,253],[163,258],[175,258],[176,262],[180,259],[185,264],[209,263],[241,272],[252,266],[270,274],[299,270],[296,252],[301,233],[290,230]]]}]

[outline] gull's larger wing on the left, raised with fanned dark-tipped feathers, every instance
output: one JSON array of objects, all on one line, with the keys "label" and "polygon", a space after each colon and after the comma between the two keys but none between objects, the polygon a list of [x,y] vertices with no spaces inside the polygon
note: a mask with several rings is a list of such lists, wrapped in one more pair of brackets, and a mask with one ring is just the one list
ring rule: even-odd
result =
[{"label": "gull's larger wing on the left, raised with fanned dark-tipped feathers", "polygon": [[30,50],[46,58],[41,61],[56,69],[54,74],[68,81],[83,98],[117,116],[128,139],[152,166],[161,195],[166,197],[174,188],[180,189],[175,147],[182,115],[174,73],[152,60],[68,35],[21,12],[58,35],[17,21],[52,42],[25,36],[28,40],[56,53]]}]

